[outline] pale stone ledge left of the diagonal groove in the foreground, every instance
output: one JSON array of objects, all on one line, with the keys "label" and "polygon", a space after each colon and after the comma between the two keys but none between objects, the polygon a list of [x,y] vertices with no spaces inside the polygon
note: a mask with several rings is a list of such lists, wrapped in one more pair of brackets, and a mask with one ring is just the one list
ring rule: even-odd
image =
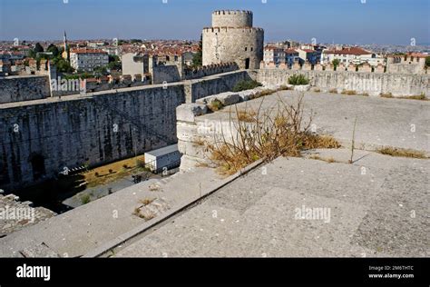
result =
[{"label": "pale stone ledge left of the diagonal groove in the foreground", "polygon": [[21,257],[23,250],[37,249],[42,243],[63,257],[82,256],[142,224],[157,221],[155,217],[146,222],[133,214],[142,206],[140,201],[162,199],[173,209],[225,181],[211,169],[195,168],[160,181],[135,184],[0,238],[0,257]]}]

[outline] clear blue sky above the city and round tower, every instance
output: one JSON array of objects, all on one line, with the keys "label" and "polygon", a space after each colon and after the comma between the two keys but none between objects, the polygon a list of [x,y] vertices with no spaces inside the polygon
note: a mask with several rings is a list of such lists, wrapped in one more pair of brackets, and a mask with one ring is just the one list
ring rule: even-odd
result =
[{"label": "clear blue sky above the city and round tower", "polygon": [[[68,3],[64,3],[68,2]],[[217,9],[254,12],[266,41],[430,43],[430,0],[0,0],[0,39],[199,39]],[[362,3],[365,2],[365,3]]]}]

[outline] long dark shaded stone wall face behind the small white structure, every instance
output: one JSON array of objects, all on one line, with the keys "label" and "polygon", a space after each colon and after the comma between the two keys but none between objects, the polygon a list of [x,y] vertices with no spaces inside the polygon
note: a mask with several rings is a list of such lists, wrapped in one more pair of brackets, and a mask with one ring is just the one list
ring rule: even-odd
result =
[{"label": "long dark shaded stone wall face behind the small white structure", "polygon": [[0,106],[0,188],[176,143],[175,108],[184,101],[183,84],[170,84]]}]

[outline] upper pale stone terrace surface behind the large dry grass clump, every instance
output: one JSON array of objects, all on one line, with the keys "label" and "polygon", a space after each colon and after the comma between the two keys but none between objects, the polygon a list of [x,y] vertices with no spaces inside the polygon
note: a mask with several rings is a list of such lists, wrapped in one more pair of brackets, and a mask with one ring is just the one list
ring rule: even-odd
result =
[{"label": "upper pale stone terrace surface behind the large dry grass clump", "polygon": [[[276,106],[279,98],[295,104],[298,92],[281,91],[238,104],[239,110],[257,111]],[[430,101],[387,99],[363,95],[308,92],[304,97],[305,120],[312,111],[318,134],[332,134],[342,143],[351,143],[357,117],[356,146],[373,149],[390,145],[430,153]],[[230,106],[217,113],[196,117],[196,122],[229,122]],[[232,106],[231,111],[235,111]],[[361,145],[361,146],[360,146]]]}]

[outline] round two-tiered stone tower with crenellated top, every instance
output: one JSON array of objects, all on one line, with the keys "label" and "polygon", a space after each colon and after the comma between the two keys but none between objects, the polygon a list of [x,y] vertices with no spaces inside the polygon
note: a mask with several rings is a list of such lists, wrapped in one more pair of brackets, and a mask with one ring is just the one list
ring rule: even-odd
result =
[{"label": "round two-tiered stone tower with crenellated top", "polygon": [[264,30],[252,27],[250,11],[215,11],[203,29],[203,65],[236,62],[240,69],[259,69]]}]

